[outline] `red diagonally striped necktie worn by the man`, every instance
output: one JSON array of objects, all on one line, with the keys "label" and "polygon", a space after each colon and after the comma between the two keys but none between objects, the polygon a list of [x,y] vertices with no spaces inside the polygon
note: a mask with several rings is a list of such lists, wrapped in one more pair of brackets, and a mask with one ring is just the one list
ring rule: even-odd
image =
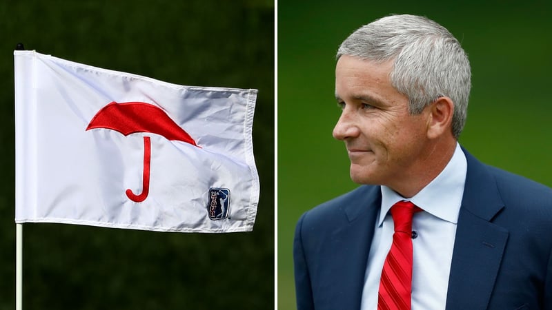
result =
[{"label": "red diagonally striped necktie worn by the man", "polygon": [[382,270],[378,310],[411,309],[412,216],[421,210],[410,201],[399,201],[391,207],[395,233]]}]

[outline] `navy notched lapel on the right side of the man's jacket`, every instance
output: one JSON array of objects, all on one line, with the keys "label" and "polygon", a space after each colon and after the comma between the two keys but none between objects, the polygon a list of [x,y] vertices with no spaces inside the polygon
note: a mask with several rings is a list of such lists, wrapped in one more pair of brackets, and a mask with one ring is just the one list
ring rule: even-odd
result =
[{"label": "navy notched lapel on the right side of the man's jacket", "polygon": [[467,153],[468,172],[458,217],[446,309],[486,309],[508,231],[491,223],[504,203],[495,179]]}]

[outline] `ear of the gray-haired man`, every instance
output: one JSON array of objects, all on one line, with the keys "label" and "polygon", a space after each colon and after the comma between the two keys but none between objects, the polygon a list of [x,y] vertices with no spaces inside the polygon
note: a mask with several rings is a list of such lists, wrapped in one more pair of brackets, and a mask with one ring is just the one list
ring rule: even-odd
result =
[{"label": "ear of the gray-haired man", "polygon": [[439,138],[444,134],[452,135],[454,103],[449,97],[439,97],[427,107],[429,109],[427,136]]}]

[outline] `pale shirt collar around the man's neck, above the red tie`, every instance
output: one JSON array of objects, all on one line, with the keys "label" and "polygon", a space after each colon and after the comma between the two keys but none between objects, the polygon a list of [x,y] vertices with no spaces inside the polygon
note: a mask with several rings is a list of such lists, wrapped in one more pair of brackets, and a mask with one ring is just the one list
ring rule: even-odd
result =
[{"label": "pale shirt collar around the man's neck, above the red tie", "polygon": [[462,152],[460,144],[456,143],[451,161],[436,178],[412,198],[404,198],[393,189],[382,185],[382,209],[378,226],[382,225],[389,209],[400,200],[410,200],[429,214],[456,224],[460,205],[462,205],[467,171],[466,155]]}]

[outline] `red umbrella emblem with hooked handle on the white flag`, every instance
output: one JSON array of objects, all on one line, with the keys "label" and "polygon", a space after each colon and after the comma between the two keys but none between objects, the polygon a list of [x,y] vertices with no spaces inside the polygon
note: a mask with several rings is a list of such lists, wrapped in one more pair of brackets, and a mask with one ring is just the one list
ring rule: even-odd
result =
[{"label": "red umbrella emblem with hooked handle on the white flag", "polygon": [[[112,101],[92,118],[86,130],[107,128],[128,136],[137,132],[159,134],[171,141],[183,141],[199,147],[194,139],[159,107],[144,102],[116,103]],[[150,191],[150,158],[151,142],[149,136],[144,136],[144,173],[142,174],[142,192],[134,194],[126,190],[126,196],[141,203],[146,200]]]}]

